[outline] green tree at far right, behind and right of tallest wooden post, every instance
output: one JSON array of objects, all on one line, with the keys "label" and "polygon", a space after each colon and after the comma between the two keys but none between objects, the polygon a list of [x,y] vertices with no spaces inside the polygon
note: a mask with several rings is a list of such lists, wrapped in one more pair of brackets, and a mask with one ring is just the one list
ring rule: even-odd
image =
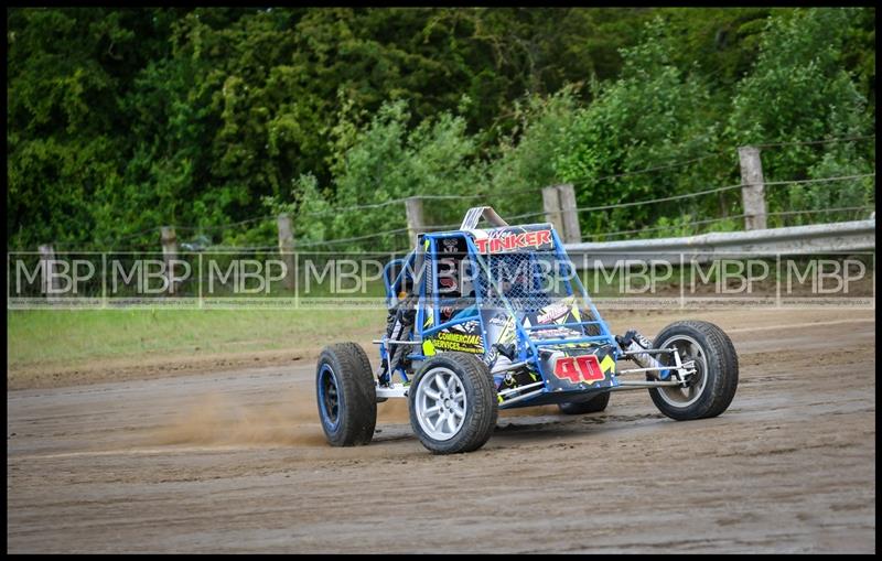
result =
[{"label": "green tree at far right, behind and right of tallest wooden post", "polygon": [[[862,14],[860,9],[810,9],[768,21],[756,64],[739,84],[727,131],[738,144],[779,144],[762,152],[768,181],[874,170],[873,142],[811,143],[873,130],[874,110],[843,64],[848,39],[862,26]],[[873,183],[770,187],[766,198],[772,212],[870,204]]]}]

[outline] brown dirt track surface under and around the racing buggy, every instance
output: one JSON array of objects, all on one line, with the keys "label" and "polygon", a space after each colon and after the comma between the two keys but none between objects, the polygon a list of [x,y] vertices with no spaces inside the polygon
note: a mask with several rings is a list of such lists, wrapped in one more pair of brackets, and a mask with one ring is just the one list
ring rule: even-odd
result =
[{"label": "brown dirt track surface under and around the racing buggy", "polygon": [[8,551],[874,552],[872,312],[690,316],[735,343],[723,416],[621,392],[456,456],[400,401],[369,446],[326,446],[311,365],[9,391]]}]

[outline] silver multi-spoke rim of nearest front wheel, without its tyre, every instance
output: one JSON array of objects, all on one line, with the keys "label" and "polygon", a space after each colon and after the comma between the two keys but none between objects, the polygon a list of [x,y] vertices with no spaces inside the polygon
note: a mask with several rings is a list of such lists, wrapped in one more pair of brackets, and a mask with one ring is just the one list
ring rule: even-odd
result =
[{"label": "silver multi-spoke rim of nearest front wheel, without its tyre", "polygon": [[417,388],[417,421],[433,440],[450,440],[460,432],[467,404],[465,387],[450,368],[431,369]]}]

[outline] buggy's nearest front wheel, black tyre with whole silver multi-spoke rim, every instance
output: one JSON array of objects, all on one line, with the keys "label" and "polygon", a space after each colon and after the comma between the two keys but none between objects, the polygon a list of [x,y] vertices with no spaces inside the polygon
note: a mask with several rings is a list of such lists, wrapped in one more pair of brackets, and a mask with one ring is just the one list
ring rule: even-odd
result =
[{"label": "buggy's nearest front wheel, black tyre with whole silver multi-spoke rim", "polygon": [[498,414],[493,377],[467,353],[443,353],[422,365],[408,391],[410,425],[434,454],[484,445]]}]

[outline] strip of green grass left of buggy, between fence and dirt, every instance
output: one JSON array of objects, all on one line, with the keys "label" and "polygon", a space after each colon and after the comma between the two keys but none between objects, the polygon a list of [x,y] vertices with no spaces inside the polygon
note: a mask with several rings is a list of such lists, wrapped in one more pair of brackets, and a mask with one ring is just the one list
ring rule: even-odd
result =
[{"label": "strip of green grass left of buggy, between fence and dirt", "polygon": [[314,349],[379,336],[384,310],[8,311],[8,367],[112,358]]}]

